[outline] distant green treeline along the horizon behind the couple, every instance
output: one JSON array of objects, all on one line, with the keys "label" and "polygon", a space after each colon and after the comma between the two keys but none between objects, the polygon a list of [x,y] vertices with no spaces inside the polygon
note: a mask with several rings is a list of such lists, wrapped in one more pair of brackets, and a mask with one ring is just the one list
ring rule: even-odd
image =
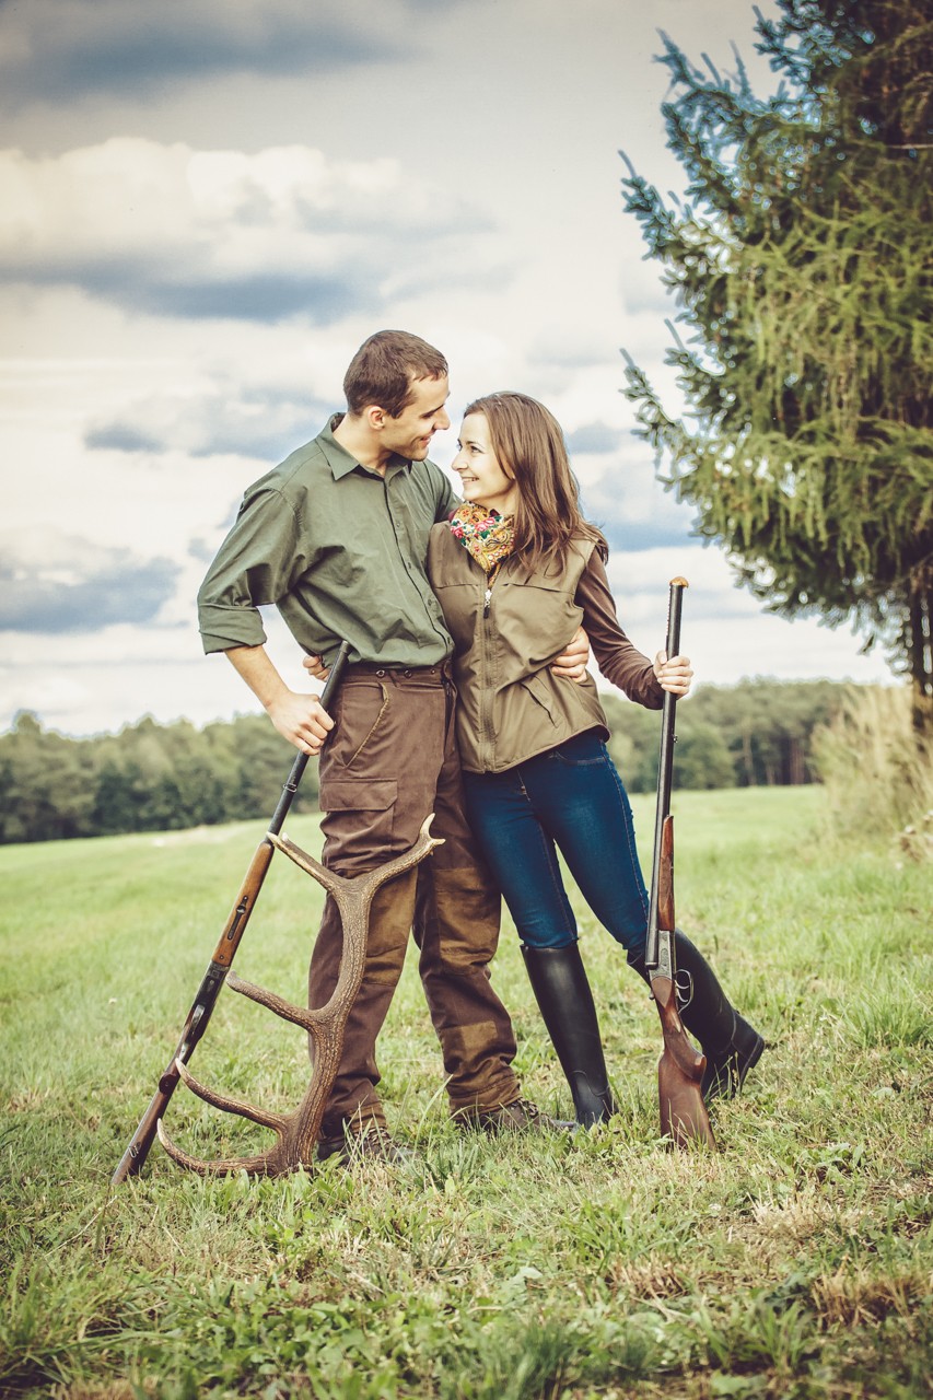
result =
[{"label": "distant green treeline along the horizon behind the couple", "polygon": [[[675,784],[682,788],[813,783],[811,736],[853,687],[829,680],[700,686],[678,707]],[[630,792],[654,788],[658,714],[602,697],[609,749]],[[294,749],[265,715],[156,724],[67,739],[35,715],[0,735],[0,843],[154,832],[268,818]],[[293,811],[314,811],[308,764]]]}]

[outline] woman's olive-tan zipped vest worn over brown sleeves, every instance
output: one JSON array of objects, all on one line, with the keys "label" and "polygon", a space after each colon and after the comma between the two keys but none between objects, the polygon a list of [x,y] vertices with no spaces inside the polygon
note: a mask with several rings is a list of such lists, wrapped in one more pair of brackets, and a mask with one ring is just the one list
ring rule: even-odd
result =
[{"label": "woman's olive-tan zipped vest worn over brown sleeves", "polygon": [[492,585],[447,524],[427,546],[427,575],[454,638],[457,742],[469,773],[500,773],[584,729],[608,739],[595,682],[555,676],[549,664],[574,636],[574,598],[593,543],[570,546],[562,573],[506,559]]}]

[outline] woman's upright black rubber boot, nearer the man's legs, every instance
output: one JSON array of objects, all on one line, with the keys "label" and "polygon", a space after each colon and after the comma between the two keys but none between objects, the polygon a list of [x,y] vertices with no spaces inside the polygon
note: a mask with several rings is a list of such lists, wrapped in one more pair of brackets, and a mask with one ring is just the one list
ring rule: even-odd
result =
[{"label": "woman's upright black rubber boot, nearer the man's legs", "polygon": [[577,1123],[591,1127],[615,1113],[600,1025],[580,949],[528,948],[521,953],[548,1035],[567,1077]]}]

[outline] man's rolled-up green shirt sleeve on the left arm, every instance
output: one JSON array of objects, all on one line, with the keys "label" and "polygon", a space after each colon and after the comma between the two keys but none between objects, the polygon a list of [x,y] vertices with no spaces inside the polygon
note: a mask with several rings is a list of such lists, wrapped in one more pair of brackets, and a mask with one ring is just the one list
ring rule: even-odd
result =
[{"label": "man's rolled-up green shirt sleeve on the left arm", "polygon": [[247,493],[198,591],[205,651],[262,645],[266,630],[259,608],[277,603],[303,567],[298,524],[289,501],[276,490]]}]

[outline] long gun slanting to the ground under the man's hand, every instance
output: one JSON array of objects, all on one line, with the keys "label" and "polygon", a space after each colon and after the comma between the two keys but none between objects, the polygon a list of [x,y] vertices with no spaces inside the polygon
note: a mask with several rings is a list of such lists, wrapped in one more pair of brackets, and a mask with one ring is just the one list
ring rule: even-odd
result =
[{"label": "long gun slanting to the ground under the man's hand", "polygon": [[[333,699],[349,655],[350,644],[349,641],[342,641],[336,661],[331,666],[328,682],[321,694],[321,706],[324,710],[328,708],[331,700]],[[249,869],[247,871],[244,882],[240,886],[237,902],[230,913],[230,918],[224,924],[224,930],[220,935],[220,941],[217,942],[210,963],[207,965],[207,970],[202,977],[200,987],[198,988],[192,1008],[188,1012],[181,1040],[168,1061],[168,1068],[158,1081],[158,1088],[153,1095],[151,1103],[140,1119],[139,1127],[136,1128],[136,1133],[133,1133],[129,1147],[123,1152],[119,1166],[111,1177],[112,1186],[119,1186],[119,1183],[125,1182],[127,1176],[136,1176],[143,1169],[146,1158],[148,1156],[148,1149],[156,1140],[158,1120],[164,1116],[168,1100],[181,1079],[178,1064],[179,1061],[181,1064],[188,1064],[195,1046],[207,1029],[207,1022],[210,1021],[214,1004],[220,995],[220,988],[227,979],[230,965],[234,960],[244,930],[249,923],[249,916],[252,914],[256,899],[259,897],[262,882],[266,878],[266,871],[269,869],[269,864],[272,861],[275,846],[270,837],[277,836],[282,830],[307,766],[308,755],[298,753],[282,788],[282,797],[279,798],[279,805],[276,806],[272,820],[269,822],[266,834],[259,841],[255,855],[249,862]]]}]

